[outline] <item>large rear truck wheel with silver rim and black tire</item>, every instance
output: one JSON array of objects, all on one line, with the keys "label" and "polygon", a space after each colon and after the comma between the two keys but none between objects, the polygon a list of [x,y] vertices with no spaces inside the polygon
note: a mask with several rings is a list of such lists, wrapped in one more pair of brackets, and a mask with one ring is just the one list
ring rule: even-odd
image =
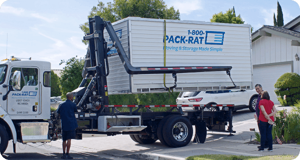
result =
[{"label": "large rear truck wheel with silver rim and black tire", "polygon": [[186,117],[175,115],[165,121],[162,134],[169,146],[185,146],[190,142],[192,137],[192,125]]}]

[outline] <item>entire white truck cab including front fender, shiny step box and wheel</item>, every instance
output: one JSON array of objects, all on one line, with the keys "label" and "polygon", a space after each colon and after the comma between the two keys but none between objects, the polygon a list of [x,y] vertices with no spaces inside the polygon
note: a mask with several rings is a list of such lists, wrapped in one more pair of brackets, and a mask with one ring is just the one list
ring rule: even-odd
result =
[{"label": "entire white truck cab including front fender, shiny step box and wheel", "polygon": [[0,61],[0,152],[15,143],[50,141],[51,64],[47,61]]}]

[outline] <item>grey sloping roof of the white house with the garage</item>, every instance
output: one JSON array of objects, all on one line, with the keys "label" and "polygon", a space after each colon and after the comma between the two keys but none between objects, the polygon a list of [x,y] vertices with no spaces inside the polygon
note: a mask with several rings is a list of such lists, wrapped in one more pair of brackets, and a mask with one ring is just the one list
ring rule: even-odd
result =
[{"label": "grey sloping roof of the white house with the garage", "polygon": [[261,28],[257,29],[251,34],[252,42],[258,39],[260,36],[271,36],[271,34],[300,42],[300,32],[293,30],[293,28],[299,25],[300,15],[283,26],[263,25]]}]

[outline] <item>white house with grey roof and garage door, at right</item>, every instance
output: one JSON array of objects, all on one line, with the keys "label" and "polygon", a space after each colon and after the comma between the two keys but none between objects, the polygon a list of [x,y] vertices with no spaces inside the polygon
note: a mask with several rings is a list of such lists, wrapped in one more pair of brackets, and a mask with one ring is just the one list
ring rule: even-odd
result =
[{"label": "white house with grey roof and garage door, at right", "polygon": [[299,74],[300,15],[285,25],[263,25],[252,33],[253,84],[267,90],[270,99],[279,104],[274,83],[285,72]]}]

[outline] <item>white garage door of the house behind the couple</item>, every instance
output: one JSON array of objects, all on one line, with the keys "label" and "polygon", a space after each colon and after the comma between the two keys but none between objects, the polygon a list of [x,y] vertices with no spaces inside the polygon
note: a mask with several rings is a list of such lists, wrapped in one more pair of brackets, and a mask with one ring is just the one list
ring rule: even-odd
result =
[{"label": "white garage door of the house behind the couple", "polygon": [[255,86],[257,83],[261,84],[262,89],[269,93],[270,100],[274,104],[279,104],[274,92],[274,84],[286,72],[291,72],[291,64],[255,67],[253,68],[253,85]]}]

